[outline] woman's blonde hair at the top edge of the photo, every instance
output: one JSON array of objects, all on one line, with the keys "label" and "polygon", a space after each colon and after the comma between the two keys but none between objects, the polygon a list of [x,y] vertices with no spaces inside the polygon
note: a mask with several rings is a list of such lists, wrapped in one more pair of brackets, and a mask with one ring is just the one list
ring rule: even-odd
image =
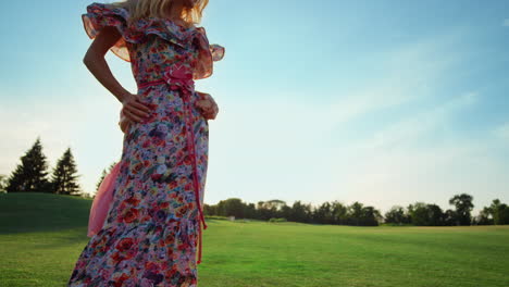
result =
[{"label": "woman's blonde hair at the top edge of the photo", "polygon": [[[175,0],[123,0],[112,2],[113,7],[125,8],[129,11],[129,21],[135,21],[142,17],[161,17],[169,20],[181,20],[187,25],[199,24],[203,15],[203,9],[209,3],[209,0],[197,0],[194,8],[188,9],[183,7],[182,11],[172,9]],[[172,14],[172,13],[181,13]]]}]

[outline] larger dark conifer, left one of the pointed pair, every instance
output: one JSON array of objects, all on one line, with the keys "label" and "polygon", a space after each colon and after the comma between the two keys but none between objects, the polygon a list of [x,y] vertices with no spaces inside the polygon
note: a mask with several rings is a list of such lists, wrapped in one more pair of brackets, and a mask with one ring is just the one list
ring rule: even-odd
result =
[{"label": "larger dark conifer, left one of the pointed pair", "polygon": [[40,138],[21,157],[21,164],[8,179],[8,192],[51,192],[48,176],[48,163],[42,153]]}]

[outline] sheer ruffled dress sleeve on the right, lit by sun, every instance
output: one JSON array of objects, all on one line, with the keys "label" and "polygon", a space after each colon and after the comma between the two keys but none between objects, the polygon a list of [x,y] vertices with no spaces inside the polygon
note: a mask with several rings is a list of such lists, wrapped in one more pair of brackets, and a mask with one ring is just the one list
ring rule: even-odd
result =
[{"label": "sheer ruffled dress sleeve on the right, lit by sun", "polygon": [[209,43],[207,33],[203,27],[198,27],[198,34],[195,40],[198,45],[198,63],[193,75],[194,79],[207,78],[213,74],[213,62],[223,59],[225,49],[218,43]]}]

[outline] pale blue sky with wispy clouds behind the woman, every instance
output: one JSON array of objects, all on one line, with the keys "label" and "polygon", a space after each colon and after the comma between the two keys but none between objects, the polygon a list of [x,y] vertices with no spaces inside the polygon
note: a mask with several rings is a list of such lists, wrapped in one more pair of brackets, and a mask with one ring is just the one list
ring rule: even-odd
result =
[{"label": "pale blue sky with wispy clouds behind the woman", "polygon": [[[121,104],[82,62],[91,2],[11,1],[0,18],[0,174],[37,136],[51,167],[71,147],[90,192],[120,159]],[[220,105],[206,203],[509,202],[507,1],[210,0],[202,26],[226,48],[197,82]]]}]

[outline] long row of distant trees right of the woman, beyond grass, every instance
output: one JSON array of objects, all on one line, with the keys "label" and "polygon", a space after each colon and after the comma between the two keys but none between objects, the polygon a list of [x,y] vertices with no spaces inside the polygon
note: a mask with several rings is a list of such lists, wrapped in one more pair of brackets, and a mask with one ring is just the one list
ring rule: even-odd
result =
[{"label": "long row of distant trees right of the woman, beyond grass", "polygon": [[509,224],[509,207],[495,199],[477,216],[472,216],[473,197],[467,194],[455,195],[449,203],[454,209],[443,211],[436,204],[415,202],[407,208],[394,205],[384,215],[373,207],[361,202],[345,204],[339,201],[324,202],[318,207],[295,201],[291,207],[282,200],[245,203],[238,198],[221,200],[218,204],[203,204],[207,215],[235,216],[268,221],[284,219],[291,222],[312,224],[336,224],[353,226],[415,225],[456,226]]}]

